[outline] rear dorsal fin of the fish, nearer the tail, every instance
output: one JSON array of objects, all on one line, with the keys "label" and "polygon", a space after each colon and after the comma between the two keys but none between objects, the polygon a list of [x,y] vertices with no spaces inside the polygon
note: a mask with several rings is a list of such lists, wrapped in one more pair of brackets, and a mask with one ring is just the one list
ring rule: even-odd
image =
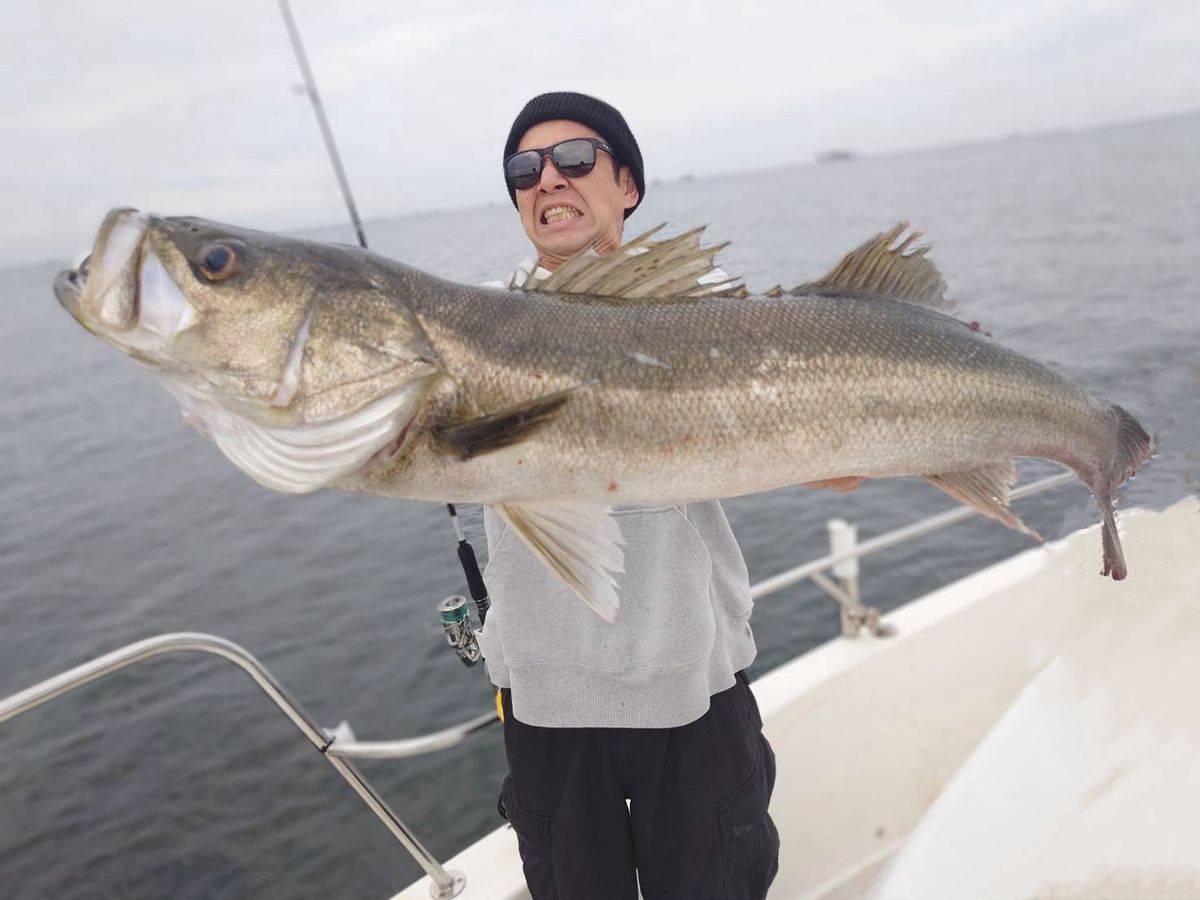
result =
[{"label": "rear dorsal fin of the fish, nearer the tail", "polygon": [[[798,284],[791,293],[875,294],[952,312],[955,304],[946,298],[946,281],[937,266],[925,258],[929,247],[913,246],[922,233],[913,230],[905,235],[906,230],[907,222],[898,223],[850,251],[824,277]],[[902,240],[895,244],[901,235]]]}]

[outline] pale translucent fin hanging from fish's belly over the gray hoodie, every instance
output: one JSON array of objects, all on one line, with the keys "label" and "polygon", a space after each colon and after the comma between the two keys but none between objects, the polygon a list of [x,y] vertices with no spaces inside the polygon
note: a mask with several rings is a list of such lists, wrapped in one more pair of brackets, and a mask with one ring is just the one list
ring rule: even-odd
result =
[{"label": "pale translucent fin hanging from fish's belly over the gray hoodie", "polygon": [[571,500],[493,506],[521,540],[605,622],[617,617],[614,575],[625,571],[620,526],[608,506]]}]

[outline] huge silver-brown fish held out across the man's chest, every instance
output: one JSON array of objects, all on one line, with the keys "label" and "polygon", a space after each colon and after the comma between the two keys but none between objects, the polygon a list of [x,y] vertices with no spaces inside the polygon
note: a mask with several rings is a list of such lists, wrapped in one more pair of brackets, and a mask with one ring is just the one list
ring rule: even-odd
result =
[{"label": "huge silver-brown fish held out across the man's chest", "polygon": [[610,504],[918,475],[1033,534],[1007,505],[1019,456],[1079,474],[1103,574],[1124,577],[1114,500],[1150,437],[949,316],[905,226],[757,296],[697,287],[715,252],[698,229],[652,234],[502,292],[114,210],[55,293],[260,484],[488,504],[608,619],[623,566]]}]

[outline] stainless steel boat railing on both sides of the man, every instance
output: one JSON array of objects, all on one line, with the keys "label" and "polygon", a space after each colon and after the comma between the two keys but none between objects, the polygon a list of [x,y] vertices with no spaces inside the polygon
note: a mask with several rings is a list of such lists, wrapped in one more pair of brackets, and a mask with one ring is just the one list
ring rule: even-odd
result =
[{"label": "stainless steel boat railing on both sides of the man", "polygon": [[[1012,493],[1013,499],[1030,497],[1049,491],[1074,478],[1073,473],[1063,472],[1050,478],[1019,487]],[[864,607],[858,593],[858,560],[864,556],[894,547],[898,544],[913,540],[940,528],[976,515],[974,510],[959,506],[936,516],[930,516],[893,532],[888,532],[866,541],[858,541],[857,529],[841,520],[828,523],[830,552],[804,565],[773,575],[751,586],[755,599],[767,596],[791,587],[805,578],[820,584],[841,608],[842,635],[854,636],[863,628],[871,634],[886,636],[892,630],[880,620],[878,610]],[[826,572],[829,572],[828,575]],[[335,730],[325,730],[316,724],[304,707],[292,697],[283,685],[266,667],[247,650],[223,637],[199,632],[173,632],[148,637],[144,641],[127,644],[103,656],[70,668],[44,682],[35,684],[18,694],[0,700],[0,722],[28,713],[55,697],[90,684],[98,678],[127,668],[155,656],[169,653],[208,653],[224,659],[240,667],[264,694],[280,708],[301,734],[320,752],[338,774],[354,788],[364,803],[392,833],[396,840],[416,860],[418,865],[430,877],[430,895],[433,898],[457,896],[466,887],[466,877],[461,872],[446,870],[418,840],[416,835],[400,820],[379,793],[367,782],[362,774],[350,762],[350,758],[395,760],[434,752],[460,744],[476,734],[494,727],[499,719],[494,710],[488,710],[458,725],[442,731],[400,740],[358,740],[344,722]]]}]

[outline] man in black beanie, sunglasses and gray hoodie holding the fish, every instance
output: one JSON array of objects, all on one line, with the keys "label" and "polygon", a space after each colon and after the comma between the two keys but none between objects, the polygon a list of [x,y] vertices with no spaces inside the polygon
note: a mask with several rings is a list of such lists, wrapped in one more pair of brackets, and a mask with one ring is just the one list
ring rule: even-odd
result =
[{"label": "man in black beanie, sunglasses and gray hoodie holding the fish", "polygon": [[[588,246],[617,251],[646,196],[624,118],[582,94],[529,101],[504,168],[536,252],[517,281]],[[625,572],[610,624],[485,514],[485,652],[510,769],[500,804],[529,890],[635,900],[640,882],[646,900],[761,900],[778,869],[775,761],[744,673],[756,648],[742,552],[715,500],[613,515]]]}]

